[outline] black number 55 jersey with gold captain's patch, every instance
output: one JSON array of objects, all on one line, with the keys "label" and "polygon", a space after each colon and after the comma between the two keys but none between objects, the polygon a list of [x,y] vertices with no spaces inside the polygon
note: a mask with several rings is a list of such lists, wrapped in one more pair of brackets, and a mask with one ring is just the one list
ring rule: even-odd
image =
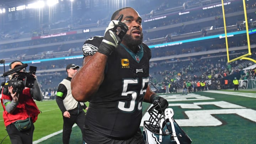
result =
[{"label": "black number 55 jersey with gold captain's patch", "polygon": [[[102,39],[88,39],[82,48],[84,56],[94,54]],[[85,123],[107,137],[126,139],[139,129],[151,58],[151,50],[146,44],[139,47],[137,54],[123,44],[112,52],[107,60],[105,78],[90,100]]]}]

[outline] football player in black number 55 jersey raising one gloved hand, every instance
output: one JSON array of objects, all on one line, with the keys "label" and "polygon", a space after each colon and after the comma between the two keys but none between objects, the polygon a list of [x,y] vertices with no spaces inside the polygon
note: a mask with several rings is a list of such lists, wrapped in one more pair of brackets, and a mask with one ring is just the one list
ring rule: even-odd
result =
[{"label": "football player in black number 55 jersey raising one gloved hand", "polygon": [[[133,8],[119,9],[104,38],[92,37],[82,47],[84,65],[71,88],[76,100],[90,101],[83,129],[87,144],[142,144],[142,102],[159,102],[159,111],[168,107],[167,100],[148,86],[151,50],[142,42],[141,23]],[[122,29],[118,36],[117,27]]]}]

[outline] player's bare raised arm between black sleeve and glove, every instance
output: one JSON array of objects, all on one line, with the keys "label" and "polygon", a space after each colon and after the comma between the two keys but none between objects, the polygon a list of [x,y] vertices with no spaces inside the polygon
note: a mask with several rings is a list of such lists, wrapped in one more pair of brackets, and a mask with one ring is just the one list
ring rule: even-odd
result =
[{"label": "player's bare raised arm between black sleeve and glove", "polygon": [[103,78],[107,56],[95,53],[84,59],[84,65],[71,80],[73,97],[79,102],[86,102],[97,92]]}]

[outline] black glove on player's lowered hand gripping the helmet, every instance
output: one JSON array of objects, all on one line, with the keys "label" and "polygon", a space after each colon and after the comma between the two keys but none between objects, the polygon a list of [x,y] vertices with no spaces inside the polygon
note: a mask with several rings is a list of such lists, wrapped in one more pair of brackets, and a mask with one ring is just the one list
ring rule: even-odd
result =
[{"label": "black glove on player's lowered hand gripping the helmet", "polygon": [[158,113],[164,112],[165,109],[168,108],[168,106],[169,106],[169,103],[167,102],[167,100],[165,98],[158,96],[156,94],[151,95],[150,101],[153,104],[159,103],[159,106],[156,107],[156,110],[158,111]]}]

